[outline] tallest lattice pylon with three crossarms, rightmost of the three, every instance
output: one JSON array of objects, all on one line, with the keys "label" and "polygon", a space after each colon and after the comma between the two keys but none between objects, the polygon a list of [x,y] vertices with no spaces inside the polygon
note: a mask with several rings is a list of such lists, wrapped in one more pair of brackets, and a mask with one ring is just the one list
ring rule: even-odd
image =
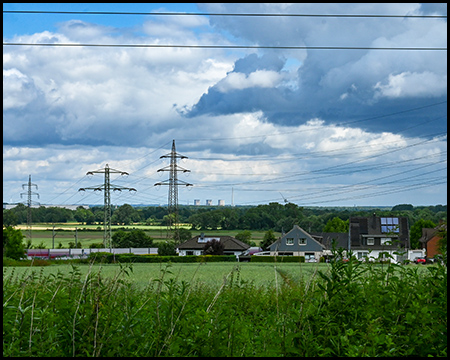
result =
[{"label": "tallest lattice pylon with three crossarms, rightmost of the three", "polygon": [[[184,185],[184,186],[193,186],[192,184],[189,184],[185,181],[178,180],[178,172],[190,172],[191,170],[183,169],[182,167],[177,165],[177,159],[187,159],[187,156],[180,155],[177,153],[175,149],[175,140],[172,141],[172,151],[169,154],[163,155],[160,157],[160,159],[163,158],[170,158],[170,165],[166,166],[162,169],[159,169],[160,171],[168,171],[169,172],[169,179],[156,183],[156,185],[169,185],[169,197],[167,202],[167,210],[168,210],[168,225],[167,228],[169,232],[172,231],[172,229],[177,228],[178,224],[178,186]],[[175,232],[176,236],[178,236],[178,232]],[[179,239],[176,239],[179,241]]]}]

